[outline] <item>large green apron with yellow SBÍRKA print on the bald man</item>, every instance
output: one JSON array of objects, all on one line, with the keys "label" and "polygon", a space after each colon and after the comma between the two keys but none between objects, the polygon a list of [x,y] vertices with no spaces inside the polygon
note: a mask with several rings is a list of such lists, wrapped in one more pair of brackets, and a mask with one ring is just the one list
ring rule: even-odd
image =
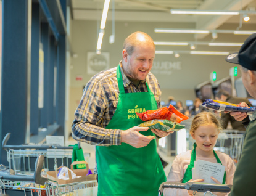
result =
[{"label": "large green apron with yellow SB\u00cdRKA print on the bald man", "polygon": [[[120,65],[117,67],[117,81],[120,91],[117,110],[106,128],[127,130],[143,122],[135,112],[155,110],[157,103],[147,83],[148,92],[125,93]],[[150,130],[139,133],[155,136]],[[126,143],[97,146],[98,195],[157,195],[166,176],[156,147],[155,139],[142,148]]]}]

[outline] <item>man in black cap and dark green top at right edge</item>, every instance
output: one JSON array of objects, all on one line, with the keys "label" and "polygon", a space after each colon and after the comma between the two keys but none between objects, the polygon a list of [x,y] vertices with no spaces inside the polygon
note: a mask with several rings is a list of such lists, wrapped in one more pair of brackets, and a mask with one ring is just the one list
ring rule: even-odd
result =
[{"label": "man in black cap and dark green top at right edge", "polygon": [[[240,65],[242,83],[249,94],[256,99],[256,33],[246,39],[239,52],[228,55],[226,61]],[[241,106],[245,107],[247,104],[242,102]],[[247,117],[245,112],[231,112],[230,115],[237,121]],[[231,196],[255,195],[256,111],[249,116],[249,119],[241,159],[237,164],[233,187],[229,194]]]}]

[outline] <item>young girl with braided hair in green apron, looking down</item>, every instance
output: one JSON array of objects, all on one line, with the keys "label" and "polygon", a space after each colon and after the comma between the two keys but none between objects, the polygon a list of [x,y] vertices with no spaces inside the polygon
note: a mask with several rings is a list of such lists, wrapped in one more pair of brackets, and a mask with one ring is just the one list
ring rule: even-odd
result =
[{"label": "young girl with braided hair in green apron, looking down", "polygon": [[[225,166],[225,184],[233,184],[234,165],[231,157],[225,153],[214,151],[213,147],[216,144],[218,134],[220,133],[220,123],[217,118],[209,112],[201,112],[197,114],[191,123],[189,131],[192,138],[196,140],[194,149],[181,153],[176,156],[171,166],[170,173],[168,174],[167,182],[204,182],[204,179],[192,180],[192,171],[194,167],[195,157],[196,160],[205,160],[212,163],[221,163]],[[217,181],[212,177],[212,180],[217,184],[223,182]],[[186,189],[165,189],[163,194],[169,195],[192,195],[192,191]],[[223,193],[215,193],[216,195],[226,195]],[[197,193],[196,195],[200,195]]]}]

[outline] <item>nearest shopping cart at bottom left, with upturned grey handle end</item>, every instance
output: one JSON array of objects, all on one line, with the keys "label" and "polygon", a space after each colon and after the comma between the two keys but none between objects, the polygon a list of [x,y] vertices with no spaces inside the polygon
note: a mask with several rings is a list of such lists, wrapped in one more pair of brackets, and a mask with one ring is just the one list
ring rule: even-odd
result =
[{"label": "nearest shopping cart at bottom left, with upturned grey handle end", "polygon": [[59,185],[56,181],[41,176],[43,165],[44,155],[39,155],[36,159],[35,172],[32,176],[14,174],[12,169],[0,169],[0,195],[76,196],[79,195],[79,189],[97,186],[96,180]]}]

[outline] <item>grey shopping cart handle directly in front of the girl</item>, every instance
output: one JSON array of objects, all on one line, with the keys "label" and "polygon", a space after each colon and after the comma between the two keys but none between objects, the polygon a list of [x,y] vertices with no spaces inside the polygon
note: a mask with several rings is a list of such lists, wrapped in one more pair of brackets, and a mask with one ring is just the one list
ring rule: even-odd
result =
[{"label": "grey shopping cart handle directly in front of the girl", "polygon": [[194,195],[196,195],[196,192],[204,192],[204,195],[207,193],[213,195],[212,192],[228,193],[231,187],[232,185],[227,184],[206,184],[200,182],[163,182],[159,187],[159,196],[163,194],[163,189],[168,188],[192,190]]}]

